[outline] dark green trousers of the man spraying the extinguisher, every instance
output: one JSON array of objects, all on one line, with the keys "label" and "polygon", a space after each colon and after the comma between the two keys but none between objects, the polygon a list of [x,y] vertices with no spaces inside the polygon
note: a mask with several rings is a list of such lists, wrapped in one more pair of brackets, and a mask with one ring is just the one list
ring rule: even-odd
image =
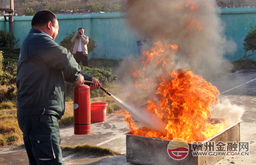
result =
[{"label": "dark green trousers of the man spraying the extinguisher", "polygon": [[64,165],[57,115],[17,116],[29,165]]}]

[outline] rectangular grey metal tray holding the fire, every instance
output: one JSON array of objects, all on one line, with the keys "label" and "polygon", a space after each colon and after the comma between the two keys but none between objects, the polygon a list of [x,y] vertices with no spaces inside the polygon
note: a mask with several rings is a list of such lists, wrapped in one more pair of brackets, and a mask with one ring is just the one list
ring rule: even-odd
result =
[{"label": "rectangular grey metal tray holding the fire", "polygon": [[[223,143],[240,141],[240,122],[234,123],[229,128],[219,132],[213,137],[203,141],[219,141]],[[129,131],[126,133],[126,160],[129,163],[139,165],[215,165],[225,156],[193,156],[192,143],[189,145],[189,153],[182,160],[174,160],[167,153],[167,146],[171,140],[161,138],[150,138],[145,136],[132,135]]]}]

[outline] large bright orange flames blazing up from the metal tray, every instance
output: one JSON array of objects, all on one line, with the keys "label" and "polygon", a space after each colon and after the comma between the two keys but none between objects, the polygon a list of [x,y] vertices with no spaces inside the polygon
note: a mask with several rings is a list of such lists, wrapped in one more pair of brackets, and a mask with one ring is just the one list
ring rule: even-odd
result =
[{"label": "large bright orange flames blazing up from the metal tray", "polygon": [[[159,64],[159,60],[164,60],[161,67],[165,70],[165,74],[160,75],[156,80],[158,89],[155,94],[159,97],[159,103],[149,99],[146,108],[149,113],[166,122],[167,135],[163,136],[160,132],[145,127],[138,129],[125,110],[116,112],[116,115],[126,117],[124,121],[134,135],[169,140],[181,138],[188,142],[204,141],[224,129],[224,123],[215,124],[209,120],[212,118],[210,106],[218,104],[219,91],[210,82],[206,82],[202,76],[193,74],[192,71],[183,71],[183,69],[168,71],[164,68],[168,58],[163,53],[168,48],[177,50],[178,46],[155,43],[155,48],[151,49],[151,52],[143,52],[144,68],[141,71],[132,71],[132,77],[137,78],[140,75],[144,77],[143,71],[146,64],[154,58],[158,58],[154,60],[157,61],[156,65]],[[145,83],[140,84],[138,80],[135,80],[135,83],[137,88],[146,88]]]}]

